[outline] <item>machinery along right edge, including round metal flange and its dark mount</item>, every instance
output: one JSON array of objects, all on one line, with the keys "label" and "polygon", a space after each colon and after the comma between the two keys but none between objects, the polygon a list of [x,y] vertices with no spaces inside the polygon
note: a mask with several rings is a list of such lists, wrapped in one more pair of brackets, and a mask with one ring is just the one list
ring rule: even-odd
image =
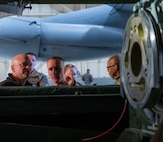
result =
[{"label": "machinery along right edge, including round metal flange and its dark mount", "polygon": [[126,133],[137,142],[153,136],[163,118],[162,30],[163,1],[138,2],[127,22],[121,52],[121,93],[133,118]]}]

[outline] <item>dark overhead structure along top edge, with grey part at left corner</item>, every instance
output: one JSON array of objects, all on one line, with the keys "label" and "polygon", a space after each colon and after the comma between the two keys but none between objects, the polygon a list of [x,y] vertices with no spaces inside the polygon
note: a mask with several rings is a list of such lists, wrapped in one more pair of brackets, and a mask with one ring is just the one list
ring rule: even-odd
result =
[{"label": "dark overhead structure along top edge, with grey part at left corner", "polygon": [[[32,9],[31,4],[129,4],[139,0],[1,0],[0,11],[22,15],[24,9]],[[2,16],[1,16],[2,15]],[[1,14],[3,17],[4,14]]]}]

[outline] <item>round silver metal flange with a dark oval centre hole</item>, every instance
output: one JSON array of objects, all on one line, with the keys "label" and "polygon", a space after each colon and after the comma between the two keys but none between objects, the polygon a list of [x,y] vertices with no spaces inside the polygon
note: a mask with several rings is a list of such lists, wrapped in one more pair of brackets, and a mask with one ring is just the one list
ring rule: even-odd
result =
[{"label": "round silver metal flange with a dark oval centre hole", "polygon": [[[160,98],[159,34],[150,12],[129,18],[121,62],[121,86],[134,108],[152,107]],[[160,38],[161,39],[161,38]]]}]

